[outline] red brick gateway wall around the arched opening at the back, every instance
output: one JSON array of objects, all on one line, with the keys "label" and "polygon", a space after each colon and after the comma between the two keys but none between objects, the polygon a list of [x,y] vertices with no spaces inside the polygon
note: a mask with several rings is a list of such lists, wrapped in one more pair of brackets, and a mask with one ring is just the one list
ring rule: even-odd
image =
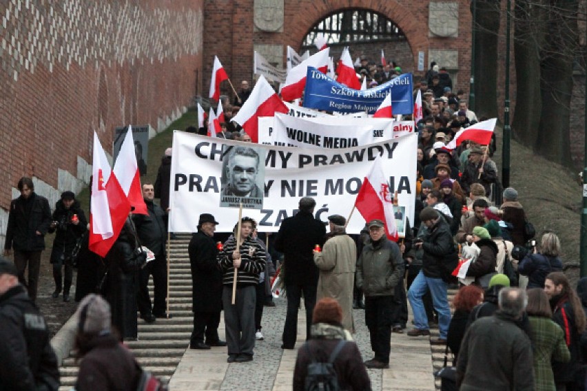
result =
[{"label": "red brick gateway wall around the arched opening at the back", "polygon": [[[386,44],[386,56],[400,59],[402,70],[415,71],[418,66],[418,52],[425,53],[425,68],[428,67],[428,51],[458,50],[457,85],[468,93],[468,79],[471,72],[471,12],[468,1],[455,0],[459,4],[458,38],[429,37],[429,1],[421,0],[284,0],[284,25],[282,32],[260,32],[254,30],[254,0],[206,0],[205,1],[205,35],[204,35],[204,72],[203,89],[209,88],[210,72],[214,54],[217,54],[233,83],[242,79],[251,80],[253,67],[253,47],[255,43],[272,43],[287,45],[300,51],[306,34],[313,25],[333,12],[345,8],[364,8],[379,12],[393,21],[406,35],[408,47]],[[232,17],[230,17],[232,15]],[[231,23],[227,23],[231,19]],[[389,45],[389,50],[387,50]],[[374,44],[369,50],[355,50],[351,46],[353,60],[359,51],[373,53],[373,61],[379,61],[380,43]],[[397,48],[397,54],[393,50]],[[333,50],[336,52],[336,50]],[[408,53],[409,52],[409,53]],[[338,53],[338,52],[337,52]],[[335,56],[335,61],[338,59]],[[425,72],[425,71],[424,71]],[[415,72],[420,76],[424,72]],[[418,80],[416,78],[415,80]],[[235,82],[236,81],[236,82]],[[223,94],[231,94],[230,87],[223,83]]]}]

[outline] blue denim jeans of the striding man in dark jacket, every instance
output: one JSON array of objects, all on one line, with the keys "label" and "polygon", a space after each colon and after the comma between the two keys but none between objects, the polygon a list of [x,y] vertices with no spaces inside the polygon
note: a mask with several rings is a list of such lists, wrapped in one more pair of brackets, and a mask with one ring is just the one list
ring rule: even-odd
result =
[{"label": "blue denim jeans of the striding man in dark jacket", "polygon": [[446,333],[449,331],[451,323],[451,308],[446,297],[446,286],[447,284],[442,281],[442,278],[426,277],[424,272],[420,271],[408,291],[408,299],[414,313],[415,328],[428,330],[428,317],[426,317],[422,297],[430,290],[434,309],[438,313],[438,328],[440,328],[440,338],[442,339],[446,339]]}]

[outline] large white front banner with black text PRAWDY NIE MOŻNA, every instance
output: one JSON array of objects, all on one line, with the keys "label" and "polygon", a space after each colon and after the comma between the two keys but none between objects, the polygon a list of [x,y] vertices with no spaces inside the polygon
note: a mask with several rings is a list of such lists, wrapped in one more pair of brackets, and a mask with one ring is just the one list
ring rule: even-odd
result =
[{"label": "large white front banner with black text PRAWDY NIE MO\u017bNA", "polygon": [[[247,148],[250,144],[174,131],[170,231],[196,232],[200,213],[214,215],[220,223],[218,232],[233,229],[238,209],[219,207],[225,146]],[[264,149],[259,155],[264,155],[265,161],[258,162],[265,165],[264,197],[262,209],[243,213],[258,222],[260,232],[277,232],[285,218],[297,213],[302,197],[316,200],[316,218],[325,223],[327,216],[335,213],[348,217],[377,156],[383,159],[389,178],[387,185],[377,190],[387,202],[393,202],[393,194],[398,191],[398,204],[413,221],[417,134],[346,149],[254,147]],[[355,212],[347,232],[360,233],[364,224],[360,213]]]}]

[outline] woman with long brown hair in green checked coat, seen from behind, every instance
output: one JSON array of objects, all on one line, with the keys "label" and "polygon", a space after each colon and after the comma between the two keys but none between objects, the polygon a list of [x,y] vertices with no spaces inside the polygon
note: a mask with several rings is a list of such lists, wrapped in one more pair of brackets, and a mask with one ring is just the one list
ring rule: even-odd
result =
[{"label": "woman with long brown hair in green checked coat, seen from behind", "polygon": [[562,328],[550,318],[553,316],[548,296],[540,288],[528,289],[526,313],[530,319],[530,339],[534,357],[535,391],[555,390],[552,361],[567,363],[570,352],[564,341]]}]

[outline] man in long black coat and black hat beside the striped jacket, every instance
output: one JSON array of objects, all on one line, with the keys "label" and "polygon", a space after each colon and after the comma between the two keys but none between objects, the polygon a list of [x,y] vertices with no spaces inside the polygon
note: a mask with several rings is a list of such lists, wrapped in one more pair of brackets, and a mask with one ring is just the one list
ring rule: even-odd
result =
[{"label": "man in long black coat and black hat beside the striped jacket", "polygon": [[[198,232],[192,235],[187,251],[192,268],[192,311],[194,331],[189,348],[209,349],[210,346],[226,346],[218,337],[220,310],[222,310],[222,272],[216,257],[218,248],[214,231],[218,222],[213,215],[202,213]],[[204,337],[206,338],[204,340]]]}]

